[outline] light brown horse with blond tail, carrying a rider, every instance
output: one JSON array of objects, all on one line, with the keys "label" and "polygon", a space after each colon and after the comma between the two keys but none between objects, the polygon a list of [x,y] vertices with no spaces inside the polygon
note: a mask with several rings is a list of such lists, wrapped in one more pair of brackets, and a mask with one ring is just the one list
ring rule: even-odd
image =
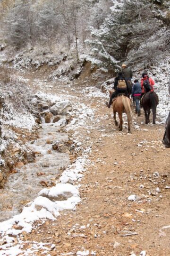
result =
[{"label": "light brown horse with blond tail, carrying a rider", "polygon": [[[113,91],[109,91],[110,96]],[[132,117],[131,117],[131,108],[130,108],[130,99],[124,96],[123,94],[120,94],[117,96],[116,99],[112,102],[113,106],[113,118],[115,120],[115,125],[118,126],[118,122],[116,120],[116,113],[118,112],[119,115],[119,131],[122,131],[123,128],[123,119],[122,114],[127,114],[127,122],[128,122],[128,133],[130,132],[130,123],[132,124]]]}]

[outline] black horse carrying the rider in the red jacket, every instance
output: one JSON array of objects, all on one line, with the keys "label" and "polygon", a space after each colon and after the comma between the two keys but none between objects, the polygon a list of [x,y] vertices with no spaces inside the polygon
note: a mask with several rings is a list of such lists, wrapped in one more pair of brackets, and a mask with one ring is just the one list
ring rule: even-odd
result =
[{"label": "black horse carrying the rider in the red jacket", "polygon": [[144,108],[145,115],[145,124],[150,122],[149,116],[151,113],[151,109],[153,111],[153,124],[155,124],[156,119],[156,107],[159,103],[158,95],[154,91],[148,91],[144,94],[142,98],[142,106]]}]

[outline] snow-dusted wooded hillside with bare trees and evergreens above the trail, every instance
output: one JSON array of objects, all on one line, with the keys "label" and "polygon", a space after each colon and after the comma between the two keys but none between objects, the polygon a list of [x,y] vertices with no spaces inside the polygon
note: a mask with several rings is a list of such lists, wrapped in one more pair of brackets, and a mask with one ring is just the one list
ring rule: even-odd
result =
[{"label": "snow-dusted wooded hillside with bare trees and evergreens above the trail", "polygon": [[147,68],[170,49],[167,0],[2,0],[0,6],[0,63],[16,68],[54,66],[51,76],[74,79],[85,60],[106,73],[125,61]]}]

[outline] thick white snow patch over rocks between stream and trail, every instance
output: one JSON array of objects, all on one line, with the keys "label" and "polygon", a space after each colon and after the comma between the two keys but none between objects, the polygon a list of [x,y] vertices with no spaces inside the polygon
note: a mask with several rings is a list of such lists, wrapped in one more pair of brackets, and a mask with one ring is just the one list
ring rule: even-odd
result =
[{"label": "thick white snow patch over rocks between stream and trail", "polygon": [[[75,190],[74,190],[74,193]],[[77,196],[71,196],[66,201],[51,201],[46,197],[38,196],[34,201],[28,204],[28,207],[24,207],[23,211],[14,216],[12,219],[3,221],[0,223],[0,232],[11,235],[18,235],[23,231],[27,233],[33,229],[32,223],[39,219],[55,219],[59,216],[59,210],[71,210],[75,208],[75,205],[80,201]],[[14,229],[13,225],[17,223],[18,226],[23,229]]]}]

